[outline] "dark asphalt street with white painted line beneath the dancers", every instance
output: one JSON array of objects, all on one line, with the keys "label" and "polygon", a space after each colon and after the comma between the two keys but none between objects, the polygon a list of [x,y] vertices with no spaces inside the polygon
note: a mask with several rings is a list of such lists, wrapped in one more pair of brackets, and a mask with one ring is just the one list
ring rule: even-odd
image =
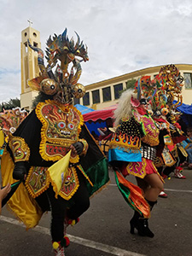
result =
[{"label": "dark asphalt street with white painted line beneath the dancers", "polygon": [[[166,180],[167,199],[154,207],[149,226],[154,238],[132,236],[129,221],[133,211],[114,183],[91,199],[90,209],[79,224],[68,228],[71,245],[67,256],[191,256],[192,255],[192,171],[184,170],[186,180]],[[134,177],[130,177],[135,183]],[[49,236],[49,213],[34,230],[26,231],[3,207],[0,218],[0,256],[54,255]]]}]

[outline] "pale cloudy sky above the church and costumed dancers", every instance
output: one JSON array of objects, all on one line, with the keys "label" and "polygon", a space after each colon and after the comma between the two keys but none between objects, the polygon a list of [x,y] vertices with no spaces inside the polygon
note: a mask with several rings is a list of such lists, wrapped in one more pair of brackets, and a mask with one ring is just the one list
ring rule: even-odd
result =
[{"label": "pale cloudy sky above the church and costumed dancers", "polygon": [[190,0],[0,0],[0,102],[20,97],[21,31],[32,20],[45,50],[67,27],[88,46],[87,85],[145,67],[192,62]]}]

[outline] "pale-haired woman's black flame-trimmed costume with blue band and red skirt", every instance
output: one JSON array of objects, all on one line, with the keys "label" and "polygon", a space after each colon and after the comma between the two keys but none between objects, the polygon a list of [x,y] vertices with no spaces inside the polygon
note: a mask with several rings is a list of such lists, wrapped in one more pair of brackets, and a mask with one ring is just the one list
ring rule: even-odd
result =
[{"label": "pale-haired woman's black flame-trimmed costume with blue band and red skirt", "polygon": [[147,112],[143,114],[141,109],[133,109],[131,119],[121,119],[113,134],[109,162],[112,165],[123,162],[120,171],[125,177],[132,174],[143,178],[146,174],[156,173],[154,159],[159,134],[154,119]]}]

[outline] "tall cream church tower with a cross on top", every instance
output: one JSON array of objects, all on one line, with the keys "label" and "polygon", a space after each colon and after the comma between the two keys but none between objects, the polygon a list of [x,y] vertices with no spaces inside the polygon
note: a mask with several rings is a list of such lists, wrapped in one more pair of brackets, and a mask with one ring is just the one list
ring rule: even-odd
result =
[{"label": "tall cream church tower with a cross on top", "polygon": [[21,94],[20,94],[20,107],[32,110],[32,101],[35,96],[38,95],[37,91],[31,90],[27,85],[28,79],[34,79],[38,77],[38,53],[32,50],[28,44],[30,43],[38,48],[41,48],[40,32],[32,28],[31,21],[29,26],[21,32],[20,43],[20,61],[21,61]]}]

